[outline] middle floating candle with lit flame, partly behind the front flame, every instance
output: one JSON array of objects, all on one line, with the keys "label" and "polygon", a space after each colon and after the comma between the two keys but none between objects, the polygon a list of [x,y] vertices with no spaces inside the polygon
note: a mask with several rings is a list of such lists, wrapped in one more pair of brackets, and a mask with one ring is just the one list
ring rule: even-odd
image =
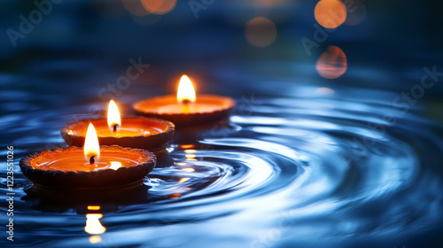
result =
[{"label": "middle floating candle with lit flame, partly behind the front flame", "polygon": [[97,130],[101,144],[117,144],[123,147],[157,149],[174,136],[175,125],[167,120],[154,118],[120,118],[120,112],[113,100],[109,103],[107,120],[80,120],[67,124],[60,130],[66,143],[82,146],[91,122]]}]

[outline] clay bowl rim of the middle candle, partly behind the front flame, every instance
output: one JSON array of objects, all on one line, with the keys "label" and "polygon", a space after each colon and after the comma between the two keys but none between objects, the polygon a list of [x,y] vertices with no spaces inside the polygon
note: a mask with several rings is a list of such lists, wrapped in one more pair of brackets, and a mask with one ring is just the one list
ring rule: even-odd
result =
[{"label": "clay bowl rim of the middle candle, partly behind the front flame", "polygon": [[[158,134],[139,135],[139,136],[97,136],[98,142],[100,144],[104,145],[117,144],[123,147],[151,150],[163,146],[165,143],[171,140],[172,136],[174,136],[175,124],[169,120],[163,120],[153,117],[147,118],[143,116],[128,116],[121,118],[121,120],[123,122],[123,125],[125,120],[141,120],[151,123],[157,123],[163,125],[163,127],[160,128],[161,132],[159,132]],[[89,125],[89,122],[92,123],[93,125],[96,125],[97,122],[104,122],[105,125],[107,126],[107,120],[105,118],[78,120],[75,122],[68,123],[63,128],[61,128],[60,129],[61,136],[63,137],[63,139],[65,139],[66,143],[68,143],[69,145],[83,146],[85,136],[81,136],[78,134],[70,135],[69,130],[74,130],[78,127],[84,127],[86,130],[86,128]]]}]

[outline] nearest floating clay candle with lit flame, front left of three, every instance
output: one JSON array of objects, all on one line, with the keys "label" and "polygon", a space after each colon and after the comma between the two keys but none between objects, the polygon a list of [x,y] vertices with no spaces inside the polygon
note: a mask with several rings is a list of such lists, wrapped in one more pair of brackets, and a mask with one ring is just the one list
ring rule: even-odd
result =
[{"label": "nearest floating clay candle with lit flame, front left of three", "polygon": [[99,146],[94,126],[89,124],[83,148],[35,152],[20,160],[20,169],[36,185],[82,189],[140,182],[155,164],[155,155],[149,151]]}]

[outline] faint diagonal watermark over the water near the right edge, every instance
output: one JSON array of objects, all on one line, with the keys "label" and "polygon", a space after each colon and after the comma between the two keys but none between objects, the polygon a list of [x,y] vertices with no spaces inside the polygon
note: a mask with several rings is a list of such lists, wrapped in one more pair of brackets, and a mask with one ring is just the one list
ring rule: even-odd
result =
[{"label": "faint diagonal watermark over the water near the right edge", "polygon": [[[439,73],[437,71],[437,66],[432,66],[431,69],[424,67],[423,71],[424,75],[422,76],[420,83],[415,84],[408,91],[401,92],[398,97],[395,97],[392,100],[392,106],[401,111],[400,115],[405,115],[410,110],[411,105],[416,105],[418,100],[424,97],[425,91],[434,87],[435,83],[443,77],[443,72]],[[367,124],[369,130],[379,135],[385,135],[386,128],[392,127],[397,123],[396,118],[389,114],[383,115],[382,119],[385,120],[387,124],[384,125],[369,122]],[[359,138],[354,137],[351,152],[345,153],[342,156],[348,163],[351,161],[357,162],[363,156],[368,154],[369,148],[375,144],[376,141],[369,136]]]}]

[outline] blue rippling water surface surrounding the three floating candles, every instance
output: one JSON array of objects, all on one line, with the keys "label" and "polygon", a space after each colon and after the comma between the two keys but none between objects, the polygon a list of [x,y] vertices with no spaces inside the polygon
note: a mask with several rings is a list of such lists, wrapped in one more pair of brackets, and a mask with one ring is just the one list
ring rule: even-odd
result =
[{"label": "blue rippling water surface surrounding the three floating candles", "polygon": [[[14,146],[16,245],[442,244],[435,237],[443,226],[442,129],[420,109],[392,106],[392,93],[292,86],[298,94],[238,97],[229,120],[177,130],[143,185],[60,193],[35,190],[18,162],[32,151],[63,146],[58,129],[89,104],[67,107],[71,102],[52,92],[39,97],[9,88],[0,99],[7,130],[1,153],[5,158],[5,146]],[[4,200],[5,167],[0,172]],[[103,214],[100,237],[85,232],[87,213]]]}]

